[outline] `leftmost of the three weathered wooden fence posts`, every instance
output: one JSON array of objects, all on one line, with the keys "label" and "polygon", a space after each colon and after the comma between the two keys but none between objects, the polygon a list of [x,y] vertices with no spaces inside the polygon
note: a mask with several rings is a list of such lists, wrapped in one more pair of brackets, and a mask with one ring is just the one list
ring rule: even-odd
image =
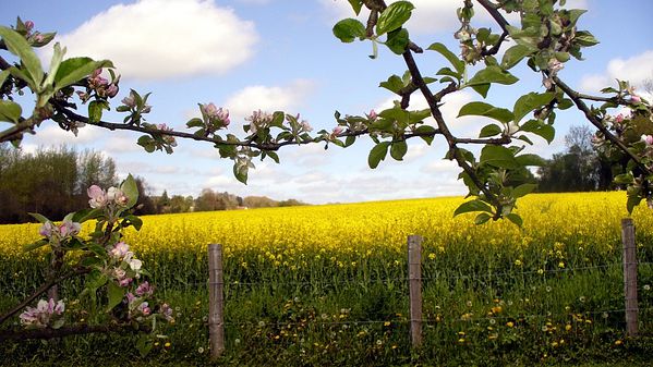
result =
[{"label": "leftmost of the three weathered wooden fence posts", "polygon": [[222,277],[222,245],[208,245],[208,334],[210,358],[225,351],[225,280]]}]

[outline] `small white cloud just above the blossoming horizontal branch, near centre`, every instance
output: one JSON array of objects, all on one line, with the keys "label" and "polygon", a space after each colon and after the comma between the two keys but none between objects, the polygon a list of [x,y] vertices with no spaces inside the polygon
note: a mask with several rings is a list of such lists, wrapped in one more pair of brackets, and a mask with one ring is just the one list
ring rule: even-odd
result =
[{"label": "small white cloud just above the blossoming horizontal branch, near centre", "polygon": [[229,109],[232,121],[242,121],[255,110],[281,110],[291,113],[292,109],[301,106],[314,87],[315,84],[307,79],[297,79],[283,87],[253,85],[233,94],[223,106]]}]

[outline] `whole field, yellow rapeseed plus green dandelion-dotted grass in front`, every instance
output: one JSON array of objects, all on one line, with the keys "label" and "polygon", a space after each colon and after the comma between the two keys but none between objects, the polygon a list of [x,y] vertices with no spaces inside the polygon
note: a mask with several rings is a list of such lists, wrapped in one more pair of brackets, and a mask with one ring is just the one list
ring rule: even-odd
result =
[{"label": "whole field, yellow rapeseed plus green dandelion-dotted grass in front", "polygon": [[[653,355],[653,217],[633,213],[641,337],[625,335],[624,193],[540,194],[520,229],[452,218],[461,198],[144,217],[125,241],[176,309],[146,359],[134,337],[5,343],[22,363],[208,363],[207,244],[225,252],[222,365],[401,366],[645,363]],[[37,225],[0,227],[0,310],[43,280]],[[424,344],[411,348],[407,236],[423,243]],[[62,294],[83,286],[70,281]],[[69,299],[73,301],[73,299]],[[71,322],[88,318],[83,302]],[[167,344],[169,343],[169,344]]]}]

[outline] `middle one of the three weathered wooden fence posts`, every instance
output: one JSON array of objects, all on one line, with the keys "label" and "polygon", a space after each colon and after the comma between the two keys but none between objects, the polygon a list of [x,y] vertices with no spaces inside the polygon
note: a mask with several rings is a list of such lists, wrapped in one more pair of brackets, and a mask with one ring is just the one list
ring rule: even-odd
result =
[{"label": "middle one of the three weathered wooden fence posts", "polygon": [[422,344],[422,236],[408,236],[408,284],[410,289],[410,340]]}]

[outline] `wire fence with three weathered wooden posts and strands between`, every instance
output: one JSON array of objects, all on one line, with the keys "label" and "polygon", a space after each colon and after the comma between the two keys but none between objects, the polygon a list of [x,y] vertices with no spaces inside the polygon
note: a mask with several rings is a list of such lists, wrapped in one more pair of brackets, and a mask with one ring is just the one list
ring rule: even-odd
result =
[{"label": "wire fence with three weathered wooden posts and strands between", "polygon": [[[634,236],[632,236],[633,238]],[[551,276],[560,276],[560,274],[571,274],[571,276],[576,276],[577,273],[582,273],[582,272],[592,272],[592,271],[601,271],[601,272],[607,272],[607,271],[614,271],[614,269],[622,269],[624,271],[624,286],[625,286],[625,305],[626,307],[622,308],[615,308],[615,307],[609,307],[609,308],[603,308],[601,309],[601,307],[597,307],[598,309],[582,309],[581,313],[575,314],[571,311],[571,309],[566,309],[564,313],[560,311],[546,311],[544,314],[535,314],[535,315],[524,315],[523,311],[518,313],[517,315],[511,315],[511,316],[501,316],[495,314],[495,313],[488,313],[486,316],[473,316],[473,314],[467,314],[463,315],[459,318],[451,318],[448,319],[447,322],[451,323],[451,322],[483,322],[483,321],[487,321],[487,322],[512,322],[513,320],[537,320],[537,319],[544,319],[544,320],[548,320],[548,319],[553,319],[553,318],[577,318],[580,319],[581,321],[584,319],[584,321],[589,320],[589,317],[591,316],[596,316],[596,315],[601,315],[603,318],[610,318],[610,316],[616,317],[615,315],[618,315],[619,317],[621,315],[625,316],[626,319],[626,323],[627,323],[627,328],[628,328],[628,333],[631,335],[637,334],[637,315],[638,313],[649,313],[651,309],[653,309],[653,307],[650,306],[645,306],[643,308],[638,307],[637,304],[637,291],[638,290],[645,290],[645,288],[650,288],[649,284],[645,284],[644,286],[638,286],[637,285],[637,269],[638,267],[650,267],[653,262],[649,262],[649,261],[642,261],[642,262],[637,262],[637,259],[634,258],[634,243],[632,244],[627,244],[626,242],[624,243],[624,261],[622,262],[610,262],[610,264],[601,264],[601,265],[592,265],[592,266],[580,266],[580,267],[572,267],[572,268],[559,268],[559,269],[539,269],[539,270],[528,270],[528,271],[503,271],[503,272],[492,272],[488,271],[487,273],[471,273],[471,274],[456,274],[456,273],[450,273],[450,272],[443,272],[443,273],[437,273],[434,274],[428,274],[428,277],[423,277],[422,276],[422,260],[421,260],[421,254],[422,254],[422,247],[421,247],[421,237],[419,236],[409,236],[409,254],[408,254],[408,277],[395,277],[395,278],[372,278],[372,277],[355,277],[355,278],[344,278],[344,279],[337,279],[337,280],[332,280],[332,279],[319,279],[319,278],[309,278],[307,280],[297,280],[297,281],[276,281],[274,282],[274,284],[270,284],[269,281],[239,281],[239,280],[234,280],[234,281],[223,281],[223,276],[222,276],[222,264],[221,264],[221,253],[219,255],[220,261],[219,264],[213,264],[209,261],[209,273],[215,273],[215,272],[219,272],[219,281],[210,281],[210,282],[195,282],[195,283],[188,283],[185,284],[186,286],[209,286],[211,288],[211,292],[213,294],[215,294],[216,292],[219,294],[225,294],[228,293],[231,289],[240,289],[240,288],[258,288],[258,286],[274,286],[274,288],[282,288],[282,286],[299,286],[299,288],[303,288],[303,286],[319,286],[319,285],[327,285],[327,286],[334,286],[334,285],[343,285],[343,284],[354,284],[354,285],[365,285],[365,284],[407,284],[408,289],[410,290],[409,292],[409,309],[410,309],[410,315],[408,317],[401,317],[401,318],[392,318],[392,319],[364,319],[364,320],[329,320],[329,317],[327,315],[327,317],[324,318],[319,318],[319,317],[315,317],[314,319],[311,320],[301,320],[301,321],[297,321],[297,320],[245,320],[245,321],[239,321],[239,320],[225,320],[225,315],[223,315],[223,304],[219,305],[219,317],[213,317],[214,319],[218,320],[215,322],[211,322],[211,320],[209,320],[209,329],[215,329],[216,327],[216,322],[218,323],[217,327],[222,328],[221,329],[221,337],[216,337],[214,335],[214,333],[211,333],[211,350],[214,351],[218,351],[218,353],[221,353],[221,351],[225,350],[225,341],[223,341],[223,327],[228,326],[228,327],[255,327],[255,326],[259,326],[259,327],[276,327],[276,328],[292,328],[292,327],[302,327],[305,328],[307,326],[313,326],[313,327],[334,327],[334,326],[365,326],[365,325],[383,325],[383,326],[391,326],[391,325],[408,325],[410,328],[410,332],[411,332],[411,342],[414,346],[418,346],[421,344],[421,335],[422,335],[422,326],[425,327],[430,327],[436,323],[442,322],[442,318],[439,316],[436,317],[424,317],[424,313],[423,313],[423,298],[422,298],[422,290],[423,288],[425,288],[425,283],[428,284],[428,282],[438,282],[438,281],[446,281],[446,282],[457,282],[457,281],[464,281],[464,282],[481,282],[481,281],[486,281],[486,280],[496,280],[496,279],[503,279],[503,278],[510,278],[510,279],[523,279],[523,281],[525,282],[525,278],[534,278],[534,277],[543,277],[544,279]],[[632,241],[633,242],[633,241]],[[213,249],[210,248],[210,246],[215,246]],[[221,252],[221,246],[220,245],[210,245],[209,246],[209,254],[211,250],[218,250],[216,248],[219,248],[219,252]],[[632,254],[627,254],[627,252],[632,252]],[[209,256],[210,258],[210,256]],[[632,270],[634,270],[634,274],[632,273]],[[536,279],[536,278],[535,278]],[[402,285],[403,286],[403,285]],[[632,299],[634,294],[634,299]],[[228,301],[228,299],[227,299]],[[222,301],[223,302],[223,301]],[[217,307],[216,305],[209,305],[209,308],[213,309]],[[482,315],[482,314],[481,314]],[[592,322],[590,320],[590,322]],[[634,322],[634,327],[632,326],[632,323]],[[211,323],[214,325],[214,328],[211,328]],[[221,339],[221,340],[220,340]]]}]

